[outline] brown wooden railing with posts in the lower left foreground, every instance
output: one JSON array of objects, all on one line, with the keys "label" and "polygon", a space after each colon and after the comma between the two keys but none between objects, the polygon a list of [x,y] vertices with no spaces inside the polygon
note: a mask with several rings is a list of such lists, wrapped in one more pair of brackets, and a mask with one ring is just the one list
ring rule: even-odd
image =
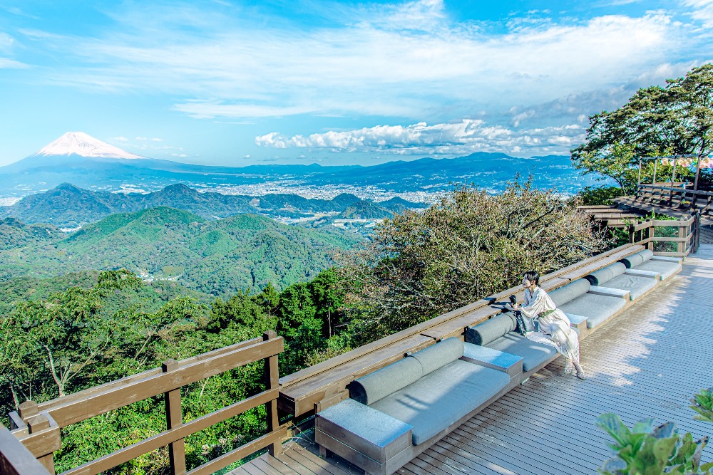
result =
[{"label": "brown wooden railing with posts in the lower left foreground", "polygon": [[[287,437],[287,427],[280,427],[277,419],[279,383],[277,355],[282,353],[283,348],[282,337],[278,337],[271,331],[260,338],[236,343],[186,360],[167,360],[160,368],[48,402],[36,404],[26,401],[20,404],[18,412],[9,414],[11,429],[14,429],[12,435],[39,460],[46,471],[54,474],[53,452],[61,448],[62,427],[163,394],[167,430],[65,471],[63,475],[99,474],[166,446],[168,446],[170,469],[173,475],[212,474],[265,448],[274,455],[281,450],[281,439]],[[183,422],[181,387],[260,360],[265,362],[265,391],[190,422]],[[186,470],[183,444],[185,437],[263,404],[267,411],[267,434],[193,470]],[[0,442],[0,461],[12,456],[12,447],[11,444]],[[14,463],[12,466],[19,466],[19,471],[8,471],[8,474],[39,475],[31,466],[28,466],[27,471],[24,469],[25,465]],[[1,473],[4,475],[5,471]]]}]

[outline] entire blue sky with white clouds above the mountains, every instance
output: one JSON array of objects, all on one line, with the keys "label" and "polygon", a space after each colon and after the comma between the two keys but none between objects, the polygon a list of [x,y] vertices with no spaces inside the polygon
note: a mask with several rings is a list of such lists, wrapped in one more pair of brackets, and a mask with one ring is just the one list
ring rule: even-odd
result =
[{"label": "entire blue sky with white clouds above the mountains", "polygon": [[567,154],[712,33],[713,0],[4,0],[0,165],[69,131],[229,166]]}]

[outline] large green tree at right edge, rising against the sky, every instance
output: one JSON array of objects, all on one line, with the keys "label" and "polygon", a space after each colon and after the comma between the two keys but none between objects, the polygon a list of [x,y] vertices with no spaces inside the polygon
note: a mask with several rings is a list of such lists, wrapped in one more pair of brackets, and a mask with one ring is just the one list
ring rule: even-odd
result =
[{"label": "large green tree at right edge, rising against the sky", "polygon": [[[638,90],[617,110],[592,115],[585,142],[571,151],[575,167],[609,177],[632,194],[639,157],[708,155],[713,150],[713,65],[666,83]],[[671,175],[666,167],[657,172],[659,177]],[[642,180],[652,173],[652,163],[645,162]],[[677,167],[677,174],[693,175],[686,167]]]}]

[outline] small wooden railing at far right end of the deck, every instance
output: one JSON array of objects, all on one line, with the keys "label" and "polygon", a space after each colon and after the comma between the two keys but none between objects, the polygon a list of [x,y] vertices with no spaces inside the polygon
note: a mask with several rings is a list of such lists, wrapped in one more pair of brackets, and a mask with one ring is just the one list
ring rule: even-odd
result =
[{"label": "small wooden railing at far right end of the deck", "polygon": [[[675,228],[676,236],[656,236],[657,229]],[[629,225],[629,242],[640,244],[650,249],[657,256],[685,257],[698,250],[698,235],[700,229],[700,213],[697,212],[689,219],[669,221],[650,219],[639,224]],[[675,251],[662,251],[657,249],[657,242],[676,243]]]}]

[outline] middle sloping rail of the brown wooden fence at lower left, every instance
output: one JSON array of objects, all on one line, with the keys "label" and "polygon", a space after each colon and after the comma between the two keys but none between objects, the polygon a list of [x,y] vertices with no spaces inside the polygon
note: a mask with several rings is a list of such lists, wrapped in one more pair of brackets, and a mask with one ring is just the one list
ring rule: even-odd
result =
[{"label": "middle sloping rail of the brown wooden fence at lower left", "polygon": [[[260,392],[255,396],[248,397],[247,399],[236,402],[235,404],[230,404],[230,406],[223,407],[222,409],[218,409],[215,412],[210,412],[210,414],[205,414],[205,416],[198,417],[197,419],[193,419],[192,421],[187,422],[185,424],[180,424],[177,427],[174,427],[173,429],[168,429],[164,432],[161,432],[160,434],[156,434],[152,437],[149,437],[148,439],[143,439],[140,442],[131,444],[128,447],[113,451],[111,454],[101,456],[100,458],[87,462],[86,464],[78,466],[75,469],[65,471],[62,475],[99,474],[108,469],[112,469],[113,467],[119,464],[123,464],[127,461],[133,460],[140,455],[147,454],[150,451],[153,451],[160,447],[164,447],[170,444],[171,442],[175,442],[180,439],[185,439],[185,437],[188,437],[190,434],[195,434],[196,432],[200,432],[204,429],[207,429],[208,427],[217,424],[218,422],[222,422],[227,419],[230,419],[231,417],[235,417],[238,414],[242,414],[248,409],[252,409],[254,407],[258,407],[262,404],[265,404],[265,402],[269,400],[274,400],[277,395],[278,392],[276,389]],[[265,436],[255,440],[260,440],[263,438],[265,438]],[[255,441],[249,442],[248,444],[253,444],[254,442]],[[255,449],[253,451],[257,451],[262,448],[263,447],[259,447],[258,449]],[[247,454],[240,457],[240,459],[250,454],[252,454],[252,452],[247,452]],[[236,459],[235,461],[240,459]]]}]

